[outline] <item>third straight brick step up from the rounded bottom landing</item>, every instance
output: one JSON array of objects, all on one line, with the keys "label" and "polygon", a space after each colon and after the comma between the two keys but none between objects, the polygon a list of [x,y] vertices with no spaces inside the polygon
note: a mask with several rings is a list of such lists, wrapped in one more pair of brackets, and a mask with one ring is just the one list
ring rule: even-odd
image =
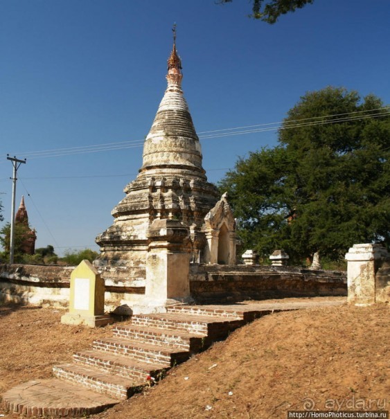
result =
[{"label": "third straight brick step up from the rounded bottom landing", "polygon": [[96,339],[92,348],[116,355],[125,355],[149,364],[160,364],[161,368],[180,364],[190,356],[188,351],[178,348],[155,346],[120,337]]}]

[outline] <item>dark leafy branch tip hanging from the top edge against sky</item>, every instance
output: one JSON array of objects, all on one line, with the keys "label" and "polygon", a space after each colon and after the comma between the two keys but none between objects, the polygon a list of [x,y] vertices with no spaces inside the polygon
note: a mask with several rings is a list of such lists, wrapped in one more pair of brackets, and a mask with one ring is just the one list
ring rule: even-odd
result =
[{"label": "dark leafy branch tip hanging from the top edge against sky", "polygon": [[[233,0],[220,0],[219,3],[231,3]],[[274,24],[281,15],[301,9],[314,0],[251,0],[254,19],[260,19],[268,24]]]}]

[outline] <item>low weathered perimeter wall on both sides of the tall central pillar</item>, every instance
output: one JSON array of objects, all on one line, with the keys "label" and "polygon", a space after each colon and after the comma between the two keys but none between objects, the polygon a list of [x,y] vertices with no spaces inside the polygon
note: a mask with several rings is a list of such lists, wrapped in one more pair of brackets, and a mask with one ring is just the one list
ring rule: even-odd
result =
[{"label": "low weathered perimeter wall on both sides of the tall central pillar", "polygon": [[[74,267],[0,265],[0,303],[13,301],[67,308],[69,281]],[[112,273],[114,274],[114,273]],[[105,278],[107,311],[142,303],[145,280]],[[112,277],[116,279],[113,280]],[[190,265],[190,292],[197,303],[224,303],[245,299],[291,296],[346,296],[346,273],[294,267],[245,265]]]}]

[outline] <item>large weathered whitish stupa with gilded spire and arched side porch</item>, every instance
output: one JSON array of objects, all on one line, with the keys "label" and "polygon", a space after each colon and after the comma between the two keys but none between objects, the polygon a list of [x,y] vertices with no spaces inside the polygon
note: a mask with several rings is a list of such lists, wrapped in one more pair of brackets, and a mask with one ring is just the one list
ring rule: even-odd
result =
[{"label": "large weathered whitish stupa with gilded spire and arched side porch", "polygon": [[[94,263],[102,270],[126,267],[129,278],[145,278],[148,232],[155,220],[175,220],[188,229],[182,245],[190,253],[190,262],[232,263],[236,258],[233,215],[227,198],[218,200],[218,190],[207,181],[200,141],[181,90],[182,78],[174,37],[168,87],[143,145],[139,175],[125,187],[126,196],[113,209],[112,226],[96,238],[100,256]],[[221,228],[224,244],[218,256],[211,242],[218,240]]]}]

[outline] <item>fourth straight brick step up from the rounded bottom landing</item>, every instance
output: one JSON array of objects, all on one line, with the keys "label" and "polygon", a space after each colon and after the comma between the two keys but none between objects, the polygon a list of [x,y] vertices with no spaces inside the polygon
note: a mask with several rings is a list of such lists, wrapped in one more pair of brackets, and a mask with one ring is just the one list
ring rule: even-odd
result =
[{"label": "fourth straight brick step up from the rounded bottom landing", "polygon": [[184,330],[145,328],[145,326],[116,326],[115,337],[136,340],[145,344],[199,352],[204,348],[206,335],[194,335]]}]

